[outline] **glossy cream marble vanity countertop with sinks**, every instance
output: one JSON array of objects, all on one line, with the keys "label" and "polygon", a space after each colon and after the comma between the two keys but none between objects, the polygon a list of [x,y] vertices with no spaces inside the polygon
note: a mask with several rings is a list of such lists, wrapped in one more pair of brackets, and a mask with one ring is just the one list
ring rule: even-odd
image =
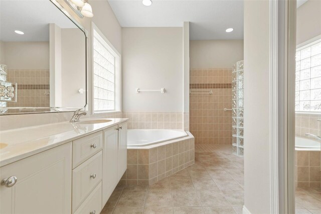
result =
[{"label": "glossy cream marble vanity countertop with sinks", "polygon": [[0,131],[0,167],[128,120],[123,118],[91,118],[88,121],[101,119],[111,121],[100,124],[61,122]]}]

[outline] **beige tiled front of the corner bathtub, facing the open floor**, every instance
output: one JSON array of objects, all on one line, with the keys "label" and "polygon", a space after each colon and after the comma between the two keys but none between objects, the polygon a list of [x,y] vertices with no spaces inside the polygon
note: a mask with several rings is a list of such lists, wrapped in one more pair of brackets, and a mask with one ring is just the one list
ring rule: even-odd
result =
[{"label": "beige tiled front of the corner bathtub, facing the open floor", "polygon": [[120,183],[148,185],[194,164],[194,137],[150,149],[127,149],[127,171]]}]

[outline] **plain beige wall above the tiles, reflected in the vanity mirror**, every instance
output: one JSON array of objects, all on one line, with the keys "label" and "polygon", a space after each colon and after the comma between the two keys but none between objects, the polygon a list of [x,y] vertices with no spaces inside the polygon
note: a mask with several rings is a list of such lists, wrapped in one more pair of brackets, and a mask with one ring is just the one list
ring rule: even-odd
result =
[{"label": "plain beige wall above the tiles, reflected in the vanity mirror", "polygon": [[49,42],[1,42],[1,49],[8,70],[49,69]]}]

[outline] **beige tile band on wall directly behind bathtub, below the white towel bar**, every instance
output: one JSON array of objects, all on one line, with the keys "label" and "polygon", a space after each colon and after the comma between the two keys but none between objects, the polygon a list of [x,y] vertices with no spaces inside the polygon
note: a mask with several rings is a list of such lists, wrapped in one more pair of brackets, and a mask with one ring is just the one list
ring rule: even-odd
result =
[{"label": "beige tile band on wall directly behind bathtub, below the white towel bar", "polygon": [[183,129],[182,112],[123,112],[128,129]]}]

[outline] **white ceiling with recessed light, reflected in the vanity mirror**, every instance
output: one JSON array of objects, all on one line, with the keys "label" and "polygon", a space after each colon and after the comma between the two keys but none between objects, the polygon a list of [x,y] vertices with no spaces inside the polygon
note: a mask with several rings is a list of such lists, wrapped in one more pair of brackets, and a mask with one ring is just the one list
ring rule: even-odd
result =
[{"label": "white ceiling with recessed light, reflected in the vanity mirror", "polygon": [[[52,2],[0,0],[0,40],[5,42],[49,41],[49,23],[77,28]],[[24,35],[14,31],[23,31]]]}]

